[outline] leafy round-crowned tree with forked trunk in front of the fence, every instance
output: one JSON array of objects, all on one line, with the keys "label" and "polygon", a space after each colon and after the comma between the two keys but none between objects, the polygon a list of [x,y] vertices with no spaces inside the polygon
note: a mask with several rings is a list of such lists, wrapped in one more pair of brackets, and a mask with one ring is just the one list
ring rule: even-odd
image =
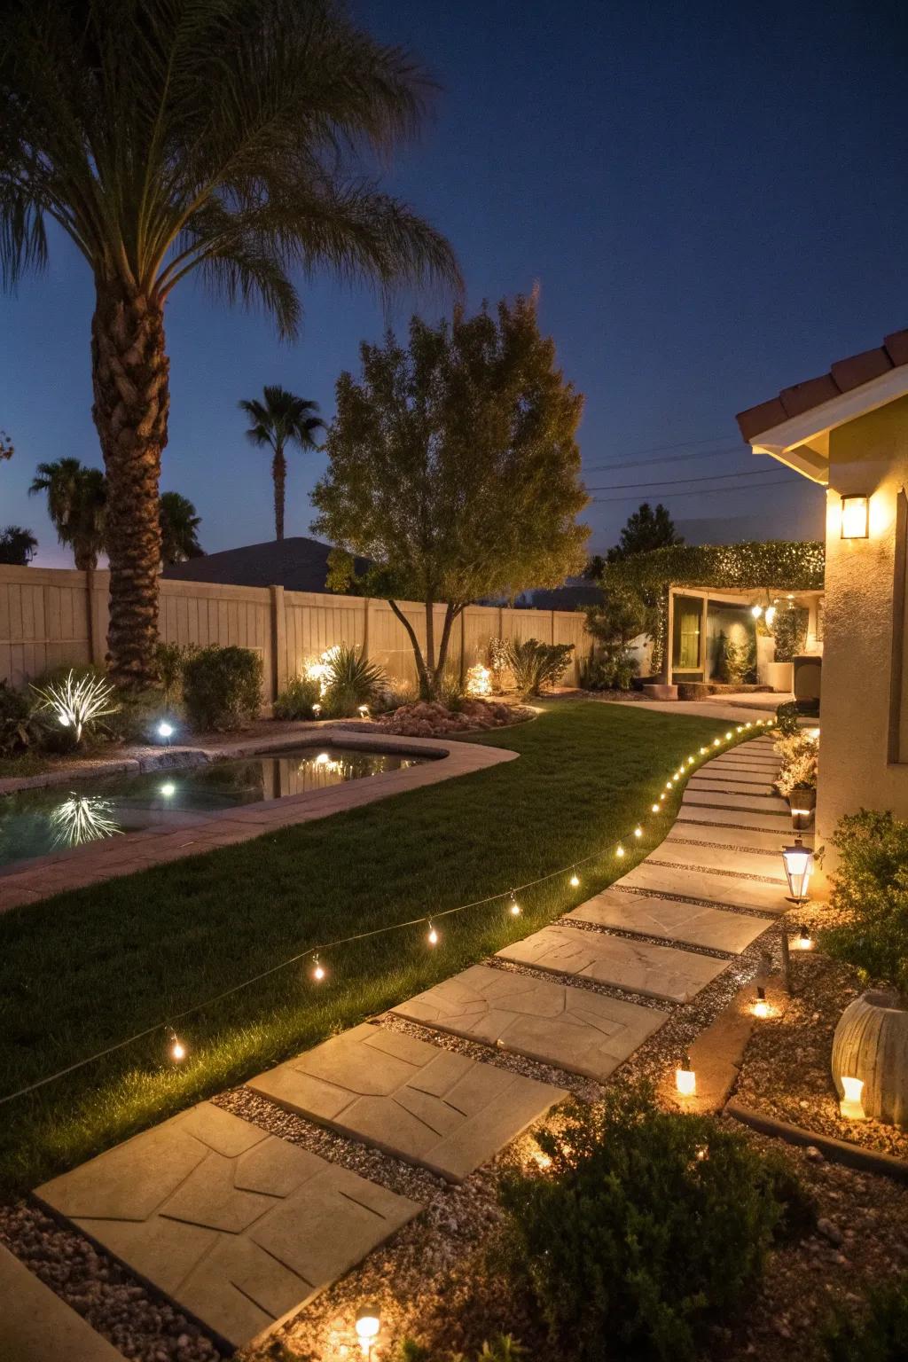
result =
[{"label": "leafy round-crowned tree with forked trunk in front of the fence", "polygon": [[[444,673],[451,629],[476,598],[560,586],[584,564],[589,534],[576,443],[583,398],[542,336],[536,300],[474,317],[410,324],[361,347],[362,373],[338,380],[327,475],[312,528],[343,550],[329,584],[359,579],[384,597],[412,644],[423,696]],[[423,603],[425,646],[399,601]],[[433,602],[445,606],[436,643]]]}]

